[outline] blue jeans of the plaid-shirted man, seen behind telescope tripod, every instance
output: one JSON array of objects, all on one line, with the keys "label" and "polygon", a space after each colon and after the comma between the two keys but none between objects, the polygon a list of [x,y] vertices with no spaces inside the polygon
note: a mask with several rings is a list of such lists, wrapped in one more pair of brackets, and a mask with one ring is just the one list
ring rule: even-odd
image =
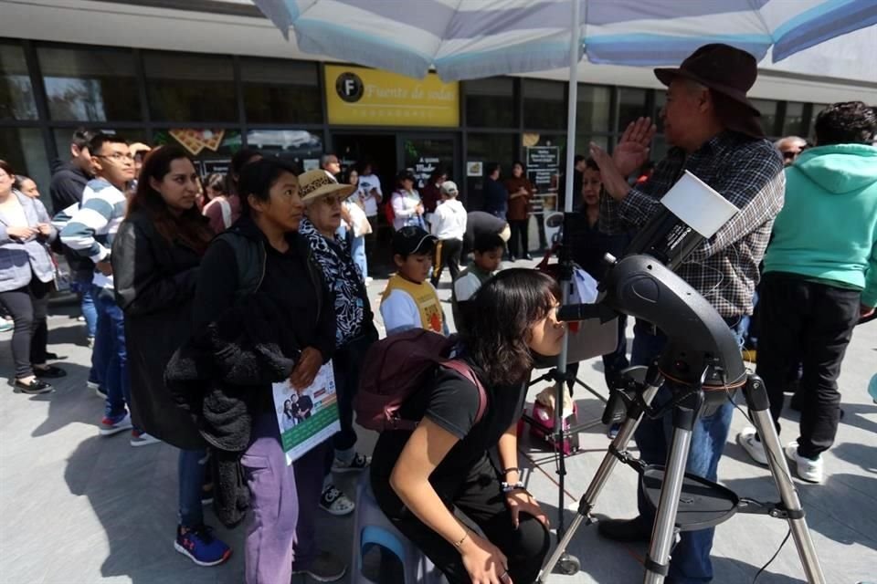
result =
[{"label": "blue jeans of the plaid-shirted man, seen behind telescope tripod", "polygon": [[[734,330],[734,334],[742,346],[743,337],[738,319],[726,319],[726,322]],[[633,349],[630,362],[632,365],[648,365],[664,348],[667,338],[660,330],[655,334],[651,325],[641,320],[637,320],[633,331]],[[671,383],[664,383],[655,395],[652,404],[661,406],[671,401],[671,397]],[[733,414],[734,404],[731,401],[725,401],[715,412],[698,418],[692,433],[691,449],[685,467],[686,472],[703,476],[710,481],[716,480],[719,459],[724,451],[724,443],[728,438]],[[643,462],[646,464],[666,464],[672,432],[672,412],[668,412],[660,420],[650,420],[645,417],[642,419],[634,437]],[[637,490],[637,503],[639,515],[642,516],[647,525],[651,526],[655,517],[642,493],[641,485]],[[674,584],[694,584],[695,582],[709,582],[713,579],[713,562],[710,559],[710,550],[713,548],[714,535],[714,527],[700,531],[683,531],[680,534],[680,541],[673,548],[670,562],[669,579]]]}]

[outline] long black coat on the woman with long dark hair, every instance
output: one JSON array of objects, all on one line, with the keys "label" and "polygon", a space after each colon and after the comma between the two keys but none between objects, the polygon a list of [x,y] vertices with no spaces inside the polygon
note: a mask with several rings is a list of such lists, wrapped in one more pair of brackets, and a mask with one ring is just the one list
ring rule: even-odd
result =
[{"label": "long black coat on the woman with long dark hair", "polygon": [[116,301],[125,313],[133,422],[177,448],[203,448],[195,423],[164,384],[167,362],[193,332],[201,256],[167,241],[149,216],[135,212],[119,226],[111,262]]}]

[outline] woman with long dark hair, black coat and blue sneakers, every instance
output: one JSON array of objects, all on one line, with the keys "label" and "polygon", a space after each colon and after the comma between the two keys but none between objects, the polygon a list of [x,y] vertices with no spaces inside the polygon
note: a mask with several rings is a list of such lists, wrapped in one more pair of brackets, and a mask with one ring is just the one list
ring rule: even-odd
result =
[{"label": "woman with long dark hair, black coat and blue sneakers", "polygon": [[137,191],[112,245],[116,300],[125,314],[134,426],[180,449],[174,547],[199,566],[231,555],[204,525],[206,443],[164,384],[174,350],[192,334],[198,265],[213,232],[198,212],[198,175],[182,148],[146,155]]}]

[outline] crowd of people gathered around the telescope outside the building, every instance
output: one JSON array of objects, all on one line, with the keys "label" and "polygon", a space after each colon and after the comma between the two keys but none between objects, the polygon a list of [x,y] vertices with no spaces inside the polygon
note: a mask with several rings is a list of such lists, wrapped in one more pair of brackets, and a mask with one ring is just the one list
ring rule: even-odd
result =
[{"label": "crowd of people gathered around the telescope outside the building", "polygon": [[[877,117],[861,102],[833,104],[819,113],[812,146],[772,144],[745,97],[755,66],[742,50],[709,45],[680,68],[656,69],[668,88],[661,115],[671,151],[650,164],[656,129],[640,119],[611,154],[592,144],[589,157],[576,156],[580,229],[570,241],[577,264],[599,280],[603,255],[623,255],[683,171],[734,203],[739,213],[677,273],[741,350],[748,343],[777,431],[790,372],[798,379],[800,435],[787,456],[801,479],[819,483],[840,419],[844,350],[877,305]],[[249,515],[250,584],[286,584],[295,573],[340,579],[343,560],[317,545],[317,514],[354,513],[333,474],[367,469],[386,516],[450,582],[532,582],[550,538],[521,480],[516,428],[534,356],[558,355],[565,326],[553,277],[500,270],[503,257],[530,258],[535,190],[523,162],[503,183],[498,164],[486,171],[484,208],[467,212],[440,169],[420,192],[413,173],[399,172],[385,201],[371,163],[342,172],[331,153],[320,169],[299,172],[245,149],[227,174],[201,177],[182,148],[83,130],[55,169],[50,216],[37,185],[0,161],[0,303],[14,319],[16,391],[52,391],[47,380],[65,375],[47,351],[54,251],[68,258],[93,345],[100,434],[179,449],[181,554],[200,566],[230,556],[205,523],[202,506],[212,502],[227,526]],[[386,335],[449,335],[437,292],[447,266],[456,354],[478,382],[438,370],[400,410],[417,427],[386,430],[368,455],[356,447],[354,395],[379,338],[367,286],[382,209],[395,269],[378,309]],[[667,343],[638,320],[628,359],[626,320],[618,320],[618,346],[603,359],[610,388],[629,363],[649,364]],[[272,384],[307,388],[330,361],[341,430],[288,464]],[[671,383],[656,404],[671,400]],[[292,412],[291,401],[281,408]],[[733,408],[727,401],[699,418],[688,472],[716,480]],[[644,419],[636,433],[647,464],[663,464],[669,440],[666,418]],[[737,440],[766,464],[755,430]],[[639,499],[639,516],[600,521],[600,534],[648,541],[653,516]],[[680,534],[669,580],[713,578],[713,533]]]}]

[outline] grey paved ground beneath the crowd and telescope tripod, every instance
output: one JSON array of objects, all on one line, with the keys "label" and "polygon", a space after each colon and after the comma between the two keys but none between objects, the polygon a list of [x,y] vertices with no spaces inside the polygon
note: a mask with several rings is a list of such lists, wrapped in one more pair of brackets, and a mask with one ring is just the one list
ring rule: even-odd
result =
[{"label": "grey paved ground beneath the crowd and telescope tripod", "polygon": [[[445,276],[448,277],[447,275]],[[369,292],[377,298],[383,280]],[[440,294],[449,296],[448,285]],[[208,522],[236,553],[218,568],[197,568],[174,552],[176,525],[176,451],[160,444],[133,449],[123,435],[98,435],[103,404],[85,387],[90,352],[72,308],[55,307],[49,322],[51,350],[66,356],[69,376],[47,396],[0,392],[0,583],[206,584],[241,582],[244,530],[228,532],[208,511]],[[447,308],[449,313],[449,307]],[[0,336],[0,372],[11,375],[9,333]],[[161,342],[161,339],[155,339]],[[838,441],[826,455],[825,485],[798,483],[819,556],[829,583],[854,584],[877,579],[877,405],[866,384],[877,370],[877,324],[856,330],[840,385],[846,417]],[[601,365],[587,361],[579,377],[602,390]],[[533,392],[541,389],[534,387]],[[580,419],[596,418],[602,403],[585,391],[576,394]],[[796,437],[797,416],[788,413],[785,441]],[[746,461],[734,443],[745,425],[734,414],[732,437],[719,470],[721,481],[738,493],[770,500],[774,495],[766,469]],[[363,433],[370,449],[374,436]],[[582,451],[568,460],[565,506],[584,493],[608,444],[597,425],[581,433]],[[549,454],[522,443],[530,489],[556,523],[558,489]],[[353,478],[342,477],[348,493]],[[635,511],[635,474],[626,468],[610,478],[597,502],[597,513],[631,516]],[[572,516],[572,513],[568,513]],[[349,555],[351,518],[321,517],[322,545]],[[719,527],[713,554],[717,584],[751,582],[758,567],[779,547],[786,524],[764,516],[735,516]],[[575,576],[554,576],[562,583],[640,581],[644,547],[610,544],[595,526],[583,527],[571,551],[581,559]],[[795,547],[788,542],[758,579],[763,584],[803,581]],[[345,579],[345,581],[350,581]]]}]

